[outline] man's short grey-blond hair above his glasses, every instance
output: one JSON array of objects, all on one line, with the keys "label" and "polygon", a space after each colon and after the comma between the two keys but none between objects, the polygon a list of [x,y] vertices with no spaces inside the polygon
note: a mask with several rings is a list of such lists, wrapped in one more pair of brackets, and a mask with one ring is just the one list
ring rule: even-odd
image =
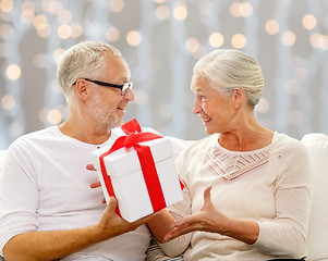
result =
[{"label": "man's short grey-blond hair above his glasses", "polygon": [[66,98],[78,78],[100,75],[106,53],[122,55],[113,46],[100,41],[83,41],[63,53],[57,69],[57,80]]}]

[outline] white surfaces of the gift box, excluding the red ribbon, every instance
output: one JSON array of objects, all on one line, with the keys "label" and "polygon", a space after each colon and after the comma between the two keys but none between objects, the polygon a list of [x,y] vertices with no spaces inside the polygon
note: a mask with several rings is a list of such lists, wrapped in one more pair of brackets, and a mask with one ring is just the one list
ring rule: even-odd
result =
[{"label": "white surfaces of the gift box, excluding the red ribbon", "polygon": [[[139,145],[150,148],[165,198],[165,207],[181,201],[183,195],[174,166],[171,141],[163,137],[139,142]],[[109,202],[110,196],[104,181],[99,158],[109,149],[110,147],[105,147],[92,152],[95,156],[94,163],[107,202]],[[133,222],[151,214],[154,209],[137,152],[133,148],[121,148],[106,156],[104,163],[106,172],[110,176],[121,216],[129,222]]]}]

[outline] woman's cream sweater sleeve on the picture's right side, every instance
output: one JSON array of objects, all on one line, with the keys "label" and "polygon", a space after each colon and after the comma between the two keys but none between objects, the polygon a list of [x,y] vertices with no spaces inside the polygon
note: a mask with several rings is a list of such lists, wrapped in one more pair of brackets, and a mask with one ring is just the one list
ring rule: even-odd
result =
[{"label": "woman's cream sweater sleeve on the picture's right side", "polygon": [[284,150],[277,167],[276,217],[259,220],[258,250],[302,258],[312,203],[312,174],[306,149],[300,144]]}]

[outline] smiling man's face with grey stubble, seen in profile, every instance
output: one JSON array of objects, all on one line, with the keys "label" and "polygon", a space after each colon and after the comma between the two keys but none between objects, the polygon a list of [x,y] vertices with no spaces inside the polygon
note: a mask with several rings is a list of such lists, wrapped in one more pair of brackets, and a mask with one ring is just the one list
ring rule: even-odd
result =
[{"label": "smiling man's face with grey stubble, seen in profile", "polygon": [[[116,85],[122,85],[130,80],[131,73],[122,57],[109,54],[106,57],[106,64],[104,73],[100,74],[102,76],[94,80]],[[130,101],[134,100],[132,90],[127,89],[123,96],[118,88],[100,86],[92,82],[87,82],[87,84],[92,85],[93,91],[92,98],[88,101],[88,116],[92,122],[104,130],[121,126],[125,108]]]}]

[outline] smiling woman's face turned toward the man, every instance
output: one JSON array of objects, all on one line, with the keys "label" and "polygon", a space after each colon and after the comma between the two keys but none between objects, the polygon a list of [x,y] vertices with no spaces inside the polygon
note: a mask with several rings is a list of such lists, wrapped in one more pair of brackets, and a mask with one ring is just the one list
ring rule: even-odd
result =
[{"label": "smiling woman's face turned toward the man", "polygon": [[193,113],[201,116],[206,133],[231,130],[235,115],[233,95],[224,96],[218,92],[210,82],[199,74],[193,75],[192,90],[196,98]]}]

